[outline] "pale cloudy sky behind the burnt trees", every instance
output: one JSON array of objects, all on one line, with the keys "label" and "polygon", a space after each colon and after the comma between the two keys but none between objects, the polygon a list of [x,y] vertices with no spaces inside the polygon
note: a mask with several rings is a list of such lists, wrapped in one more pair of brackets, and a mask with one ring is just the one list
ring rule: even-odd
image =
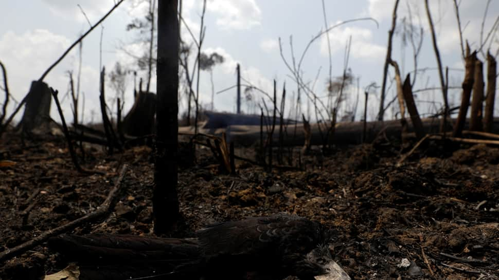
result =
[{"label": "pale cloudy sky behind the burnt trees", "polygon": [[[103,23],[102,64],[106,69],[112,69],[119,61],[133,69],[136,64],[122,49],[140,54],[142,50],[137,44],[137,33],[126,31],[126,25],[133,18],[144,15],[146,6],[137,4],[138,0],[125,2]],[[430,0],[432,16],[436,25],[438,46],[442,64],[450,68],[451,86],[459,86],[462,81],[463,63],[459,44],[459,33],[452,0]],[[463,36],[470,42],[473,49],[480,47],[480,30],[487,6],[487,0],[461,0],[460,17],[464,29]],[[351,50],[348,67],[353,75],[359,78],[361,92],[368,84],[381,84],[382,68],[386,53],[388,29],[391,25],[391,11],[395,0],[325,0],[327,25],[332,26],[353,18],[372,17],[373,21],[359,21],[342,25],[329,33],[332,54],[332,76],[341,76],[344,67],[345,47],[351,36]],[[3,1],[0,4],[3,11],[0,17],[0,61],[8,71],[8,81],[11,94],[20,101],[29,89],[30,82],[38,79],[44,70],[53,63],[78,36],[85,32],[89,24],[78,5],[93,24],[114,4],[113,0],[25,0],[24,5],[15,1]],[[27,9],[26,7],[29,7]],[[198,34],[200,28],[201,0],[184,0],[183,16],[193,33]],[[410,41],[403,44],[402,21],[409,22],[411,11],[413,24],[422,27],[423,42],[418,60],[418,68],[427,68],[420,72],[413,90],[438,86],[435,54],[433,52],[428,21],[421,0],[400,0],[398,29],[394,38],[393,59],[401,65],[405,76],[414,70],[413,50]],[[491,30],[499,15],[499,0],[491,0],[485,15],[483,40]],[[279,51],[279,38],[282,44],[283,56],[292,61],[292,40],[294,56],[299,60],[310,40],[326,23],[323,14],[322,1],[303,0],[208,0],[205,16],[206,37],[203,51],[217,52],[225,58],[225,62],[213,68],[215,91],[235,85],[236,64],[241,64],[241,76],[266,92],[272,92],[272,80],[276,79],[279,88],[286,83],[288,104],[296,91],[296,84],[291,78],[291,72],[284,64]],[[99,90],[99,42],[101,29],[97,28],[83,41],[83,65],[81,69],[81,91],[85,96],[84,120],[92,120],[92,111],[98,113]],[[499,33],[499,32],[497,32]],[[192,42],[187,29],[183,28],[185,41]],[[485,49],[491,47],[496,55],[499,46],[499,34],[491,33]],[[491,40],[492,39],[492,40]],[[480,54],[479,57],[482,57]],[[192,61],[191,61],[192,63]],[[191,66],[192,68],[192,66]],[[45,81],[52,87],[65,93],[68,88],[67,71],[78,69],[78,48],[75,48],[64,61],[47,76]],[[302,77],[309,86],[314,85],[317,96],[324,97],[326,102],[326,81],[329,77],[329,54],[327,36],[314,41],[308,49],[301,65]],[[390,70],[390,73],[393,71]],[[145,73],[139,73],[145,77]],[[393,77],[393,74],[390,74]],[[210,75],[202,72],[200,95],[203,105],[208,106],[211,98]],[[315,83],[314,83],[315,81]],[[152,81],[155,89],[155,79]],[[393,88],[393,87],[392,87]],[[357,96],[357,80],[355,86],[348,90],[348,100],[343,110],[350,109]],[[155,90],[153,90],[155,91]],[[133,76],[129,77],[126,108],[133,103]],[[112,99],[115,94],[108,88],[107,95]],[[395,95],[388,92],[387,100]],[[3,94],[0,95],[3,102]],[[235,89],[227,90],[215,96],[215,109],[220,111],[235,110]],[[257,91],[253,99],[260,102],[264,97]],[[449,100],[457,104],[459,91],[451,91]],[[306,100],[306,98],[304,97]],[[363,108],[363,96],[358,107]],[[440,91],[420,91],[417,93],[420,113],[432,113],[435,106],[440,105]],[[266,99],[269,102],[268,99]],[[377,114],[379,96],[373,92],[369,96],[368,118]],[[436,102],[434,105],[432,102]],[[242,109],[252,113],[255,106],[244,101]],[[269,103],[270,105],[270,103]],[[12,111],[13,102],[9,106]],[[71,120],[69,99],[64,103],[65,115]],[[52,106],[55,107],[55,106]],[[304,110],[307,104],[304,102]],[[180,109],[185,110],[185,101]],[[386,117],[390,118],[397,109],[389,110]],[[59,120],[52,108],[52,117]],[[21,114],[20,114],[21,115]],[[313,115],[313,114],[312,114]],[[361,115],[360,109],[357,116]],[[98,115],[94,120],[97,121]],[[313,116],[312,116],[313,118]]]}]

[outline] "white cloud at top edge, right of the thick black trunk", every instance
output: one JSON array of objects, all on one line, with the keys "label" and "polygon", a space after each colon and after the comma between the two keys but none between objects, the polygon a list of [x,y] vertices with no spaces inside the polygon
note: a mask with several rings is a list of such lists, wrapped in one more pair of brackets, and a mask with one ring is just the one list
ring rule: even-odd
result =
[{"label": "white cloud at top edge, right of the thick black trunk", "polygon": [[222,29],[250,29],[260,25],[261,10],[255,0],[210,0],[206,10],[217,14]]}]

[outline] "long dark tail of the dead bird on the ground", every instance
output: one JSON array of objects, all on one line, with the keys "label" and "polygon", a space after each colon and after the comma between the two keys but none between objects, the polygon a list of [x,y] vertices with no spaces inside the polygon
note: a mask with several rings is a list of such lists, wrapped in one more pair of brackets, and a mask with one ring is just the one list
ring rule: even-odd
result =
[{"label": "long dark tail of the dead bird on the ground", "polygon": [[189,278],[201,269],[197,239],[132,235],[60,235],[48,245],[67,262],[76,262],[80,280]]}]

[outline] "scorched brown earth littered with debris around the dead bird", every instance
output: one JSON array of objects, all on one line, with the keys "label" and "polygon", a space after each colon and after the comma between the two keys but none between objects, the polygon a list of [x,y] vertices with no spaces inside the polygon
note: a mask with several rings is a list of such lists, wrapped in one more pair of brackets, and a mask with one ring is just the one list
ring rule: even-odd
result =
[{"label": "scorched brown earth littered with debris around the dead bird", "polygon": [[[84,145],[83,165],[105,175],[81,175],[64,139],[24,144],[8,134],[0,141],[0,160],[15,162],[0,167],[0,252],[94,211],[123,163],[130,169],[113,213],[72,233],[152,234],[151,148],[107,156]],[[328,156],[314,147],[302,158],[305,171],[269,173],[237,161],[237,175],[219,174],[199,147],[197,165],[180,170],[185,225],[174,235],[288,212],[332,228],[331,252],[352,279],[499,279],[499,149],[429,142],[397,167],[400,151],[411,147],[385,139]],[[249,148],[236,153],[254,156]],[[66,265],[44,244],[0,263],[0,279],[36,279]]]}]

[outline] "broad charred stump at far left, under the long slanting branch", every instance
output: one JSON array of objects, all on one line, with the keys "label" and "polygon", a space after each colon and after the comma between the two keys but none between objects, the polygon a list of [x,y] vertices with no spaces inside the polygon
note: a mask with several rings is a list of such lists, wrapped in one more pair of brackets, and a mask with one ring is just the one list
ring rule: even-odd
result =
[{"label": "broad charred stump at far left, under the long slanting branch", "polygon": [[17,126],[23,133],[31,133],[34,129],[43,132],[48,129],[50,122],[50,103],[52,101],[50,89],[44,82],[33,81],[26,96],[26,108],[23,118]]}]

